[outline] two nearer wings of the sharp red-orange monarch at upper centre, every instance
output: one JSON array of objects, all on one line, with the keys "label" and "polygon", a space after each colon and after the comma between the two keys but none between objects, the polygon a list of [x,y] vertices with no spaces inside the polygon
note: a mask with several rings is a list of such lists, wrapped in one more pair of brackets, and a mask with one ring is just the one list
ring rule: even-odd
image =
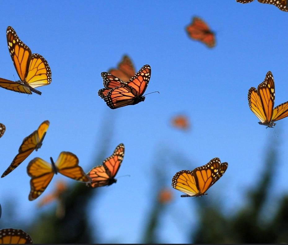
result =
[{"label": "two nearer wings of the sharp red-orange monarch at upper centre", "polygon": [[104,97],[104,101],[111,109],[135,105],[144,101],[145,96],[142,95],[148,86],[150,76],[151,67],[144,65],[139,72],[127,82],[127,85],[118,86],[109,90]]}]

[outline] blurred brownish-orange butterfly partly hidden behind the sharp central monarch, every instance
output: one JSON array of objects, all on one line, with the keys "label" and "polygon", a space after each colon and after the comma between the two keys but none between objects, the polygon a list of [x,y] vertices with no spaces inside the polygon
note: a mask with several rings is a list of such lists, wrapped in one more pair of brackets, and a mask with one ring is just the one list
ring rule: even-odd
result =
[{"label": "blurred brownish-orange butterfly partly hidden behind the sharp central monarch", "polygon": [[[136,73],[135,68],[132,64],[131,59],[127,56],[124,55],[120,63],[117,65],[118,68],[116,69],[110,69],[108,73],[111,75],[118,77],[124,82],[127,82],[130,80],[131,77],[133,77]],[[120,86],[119,84],[118,86]]]}]

